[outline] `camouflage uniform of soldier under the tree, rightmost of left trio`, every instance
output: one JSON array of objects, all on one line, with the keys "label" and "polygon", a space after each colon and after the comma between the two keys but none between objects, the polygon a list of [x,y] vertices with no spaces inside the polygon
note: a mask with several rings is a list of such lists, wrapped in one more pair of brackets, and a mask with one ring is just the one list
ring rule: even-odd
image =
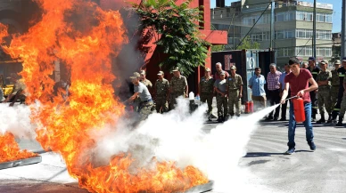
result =
[{"label": "camouflage uniform of soldier under the tree, rightmost of left trio", "polygon": [[174,105],[177,104],[177,97],[179,96],[185,96],[185,86],[187,85],[186,77],[180,76],[176,77],[173,76],[170,80],[169,87],[171,89],[170,92],[170,109],[174,109]]}]

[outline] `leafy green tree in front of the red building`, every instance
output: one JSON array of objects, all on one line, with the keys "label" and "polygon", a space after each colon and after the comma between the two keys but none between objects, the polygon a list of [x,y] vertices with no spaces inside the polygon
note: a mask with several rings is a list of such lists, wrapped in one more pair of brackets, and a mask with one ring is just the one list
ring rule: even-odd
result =
[{"label": "leafy green tree in front of the red building", "polygon": [[199,34],[202,12],[198,7],[189,8],[190,3],[191,0],[180,5],[174,0],[144,0],[132,4],[142,23],[140,47],[155,38],[155,52],[167,56],[159,66],[169,71],[179,67],[185,75],[204,65],[210,45]]}]

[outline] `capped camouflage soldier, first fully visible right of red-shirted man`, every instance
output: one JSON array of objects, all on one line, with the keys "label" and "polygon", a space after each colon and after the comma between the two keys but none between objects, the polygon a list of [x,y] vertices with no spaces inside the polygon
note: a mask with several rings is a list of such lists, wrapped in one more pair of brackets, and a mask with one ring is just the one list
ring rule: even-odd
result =
[{"label": "capped camouflage soldier, first fully visible right of red-shirted man", "polygon": [[320,65],[321,71],[317,75],[317,103],[319,112],[321,113],[321,119],[316,122],[317,124],[325,123],[325,110],[329,115],[328,120],[332,120],[332,101],[330,94],[332,73],[327,69],[328,62],[326,60],[322,60]]}]

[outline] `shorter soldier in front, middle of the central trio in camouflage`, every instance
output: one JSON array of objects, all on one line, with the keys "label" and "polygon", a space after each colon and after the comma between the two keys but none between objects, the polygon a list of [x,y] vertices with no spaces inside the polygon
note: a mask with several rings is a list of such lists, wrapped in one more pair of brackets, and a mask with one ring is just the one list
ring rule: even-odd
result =
[{"label": "shorter soldier in front, middle of the central trio in camouflage", "polygon": [[225,76],[225,71],[220,72],[220,79],[216,80],[214,83],[215,92],[217,92],[218,123],[225,121],[228,114]]}]

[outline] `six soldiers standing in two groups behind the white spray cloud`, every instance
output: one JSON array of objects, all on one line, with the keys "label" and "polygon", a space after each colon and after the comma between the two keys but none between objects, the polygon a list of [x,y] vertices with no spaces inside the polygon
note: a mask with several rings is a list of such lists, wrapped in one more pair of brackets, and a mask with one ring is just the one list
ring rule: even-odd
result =
[{"label": "six soldiers standing in two groups behind the white spray cloud", "polygon": [[[165,113],[175,108],[177,97],[188,97],[186,77],[180,74],[179,68],[174,68],[172,71],[174,76],[170,81],[164,78],[162,71],[159,71],[154,85],[146,79],[144,70],[130,76],[134,84],[134,94],[125,102],[133,102],[134,110],[139,113],[141,120],[152,113],[153,107],[157,113]],[[235,66],[231,67],[231,74],[228,74],[222,70],[222,64],[218,62],[214,77],[211,76],[210,68],[205,68],[204,71],[198,86],[198,94],[201,102],[208,104],[206,117],[211,120],[213,116],[211,104],[214,96],[217,98],[218,122],[240,117],[243,79],[235,73]],[[152,93],[150,90],[153,90]]]}]

